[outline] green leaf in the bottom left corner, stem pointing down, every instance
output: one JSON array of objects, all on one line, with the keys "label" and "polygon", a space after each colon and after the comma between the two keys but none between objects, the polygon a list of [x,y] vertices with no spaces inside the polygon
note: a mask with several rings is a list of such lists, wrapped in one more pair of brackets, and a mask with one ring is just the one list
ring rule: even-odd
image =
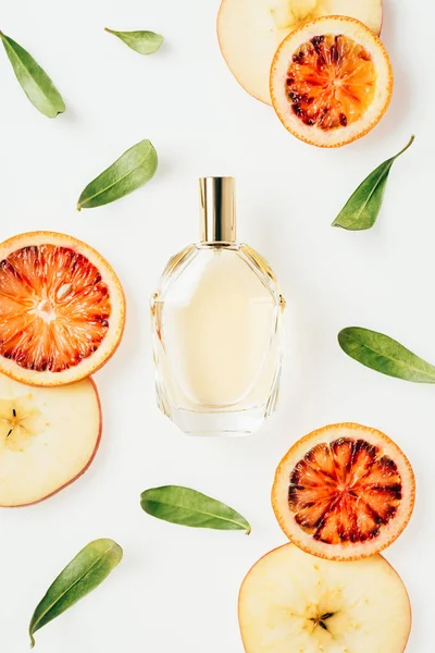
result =
[{"label": "green leaf in the bottom left corner, stem pointing down", "polygon": [[34,634],[65,609],[95,590],[121,562],[123,551],[113,540],[95,540],[61,571],[37,605],[28,628]]}]

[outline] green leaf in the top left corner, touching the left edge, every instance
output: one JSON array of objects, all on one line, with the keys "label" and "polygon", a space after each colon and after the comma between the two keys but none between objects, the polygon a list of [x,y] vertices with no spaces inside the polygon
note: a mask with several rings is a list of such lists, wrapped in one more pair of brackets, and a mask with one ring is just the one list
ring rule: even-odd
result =
[{"label": "green leaf in the top left corner, touching the left edge", "polygon": [[65,103],[47,73],[17,42],[0,32],[13,71],[30,102],[48,118],[65,111]]}]

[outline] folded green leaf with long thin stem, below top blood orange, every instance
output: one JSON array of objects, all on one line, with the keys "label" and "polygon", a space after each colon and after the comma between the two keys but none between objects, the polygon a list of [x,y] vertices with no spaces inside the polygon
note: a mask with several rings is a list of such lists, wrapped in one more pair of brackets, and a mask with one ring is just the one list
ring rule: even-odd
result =
[{"label": "folded green leaf with long thin stem, below top blood orange", "polygon": [[380,214],[391,165],[400,155],[411,147],[414,138],[415,136],[411,136],[408,145],[398,155],[387,159],[369,174],[350,196],[332,226],[341,226],[350,231],[361,231],[373,226]]}]

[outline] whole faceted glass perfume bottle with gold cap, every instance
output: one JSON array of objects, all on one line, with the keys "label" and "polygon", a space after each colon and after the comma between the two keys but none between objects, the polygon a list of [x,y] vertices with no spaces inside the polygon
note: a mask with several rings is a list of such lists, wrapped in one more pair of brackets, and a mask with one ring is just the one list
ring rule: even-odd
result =
[{"label": "whole faceted glass perfume bottle with gold cap", "polygon": [[202,237],[152,297],[160,409],[185,433],[246,435],[275,408],[285,301],[269,264],[236,241],[233,177],[200,180]]}]

